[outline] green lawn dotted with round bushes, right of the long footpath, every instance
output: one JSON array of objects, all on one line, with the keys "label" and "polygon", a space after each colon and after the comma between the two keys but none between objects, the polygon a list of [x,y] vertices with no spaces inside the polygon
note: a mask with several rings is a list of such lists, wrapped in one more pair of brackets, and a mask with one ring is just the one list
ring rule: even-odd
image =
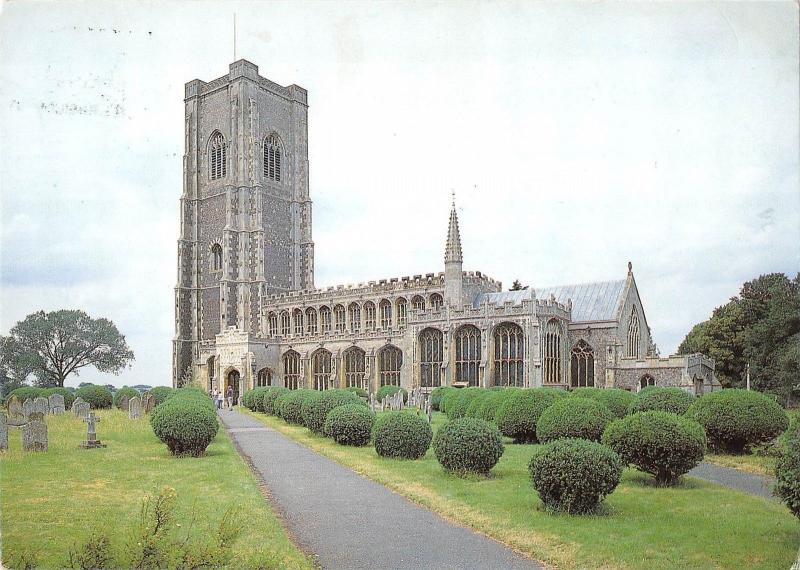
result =
[{"label": "green lawn dotted with round bushes, right of the long footpath", "polygon": [[[601,514],[554,516],[528,478],[531,445],[507,443],[491,478],[462,479],[444,472],[432,450],[419,461],[385,459],[371,447],[343,447],[252,415],[450,520],[563,568],[788,568],[800,544],[800,522],[782,504],[699,479],[656,488],[628,469]],[[434,429],[444,421],[437,413]]]}]

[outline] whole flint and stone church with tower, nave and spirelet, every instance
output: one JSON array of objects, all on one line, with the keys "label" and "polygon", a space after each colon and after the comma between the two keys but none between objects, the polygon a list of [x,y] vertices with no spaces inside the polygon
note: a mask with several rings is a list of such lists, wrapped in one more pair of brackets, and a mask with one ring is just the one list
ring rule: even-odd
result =
[{"label": "whole flint and stone church with tower, nave and spirelet", "polygon": [[455,203],[444,271],[315,288],[306,90],[239,60],[185,106],[175,386],[719,385],[702,355],[656,354],[630,263],[517,291],[464,271]]}]

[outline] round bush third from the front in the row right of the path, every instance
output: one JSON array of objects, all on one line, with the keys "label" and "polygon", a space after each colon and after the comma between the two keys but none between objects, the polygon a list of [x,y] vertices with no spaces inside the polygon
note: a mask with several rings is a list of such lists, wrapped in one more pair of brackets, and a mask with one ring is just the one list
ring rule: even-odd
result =
[{"label": "round bush third from the front in the row right of the path", "polygon": [[386,412],[375,420],[372,437],[375,451],[382,457],[419,459],[428,451],[433,431],[412,412]]}]

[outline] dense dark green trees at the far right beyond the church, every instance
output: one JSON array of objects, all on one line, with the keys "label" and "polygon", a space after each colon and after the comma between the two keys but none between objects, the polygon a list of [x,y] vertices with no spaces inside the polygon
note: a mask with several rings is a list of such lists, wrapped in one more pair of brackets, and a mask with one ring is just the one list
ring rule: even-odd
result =
[{"label": "dense dark green trees at the far right beyond the church", "polygon": [[749,364],[756,390],[785,403],[800,397],[800,273],[748,281],[738,296],[694,326],[678,352],[713,358],[725,387],[743,388]]}]

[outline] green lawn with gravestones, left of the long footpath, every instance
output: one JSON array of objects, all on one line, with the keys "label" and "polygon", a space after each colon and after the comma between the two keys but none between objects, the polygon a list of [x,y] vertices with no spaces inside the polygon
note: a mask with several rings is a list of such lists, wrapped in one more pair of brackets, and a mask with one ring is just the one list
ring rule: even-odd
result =
[{"label": "green lawn with gravestones, left of the long footpath", "polygon": [[201,458],[174,458],[153,435],[147,418],[103,410],[98,437],[105,449],[79,449],[86,424],[72,414],[48,416],[46,453],[21,451],[20,432],[9,431],[10,450],[0,454],[2,559],[5,566],[23,551],[40,568],[62,568],[68,549],[92,529],[108,530],[121,545],[137,520],[141,500],[164,486],[177,492],[177,521],[193,536],[209,536],[225,511],[241,508],[243,532],[233,551],[236,567],[252,566],[259,556],[279,567],[313,568],[287,538],[250,469],[225,431]]}]

